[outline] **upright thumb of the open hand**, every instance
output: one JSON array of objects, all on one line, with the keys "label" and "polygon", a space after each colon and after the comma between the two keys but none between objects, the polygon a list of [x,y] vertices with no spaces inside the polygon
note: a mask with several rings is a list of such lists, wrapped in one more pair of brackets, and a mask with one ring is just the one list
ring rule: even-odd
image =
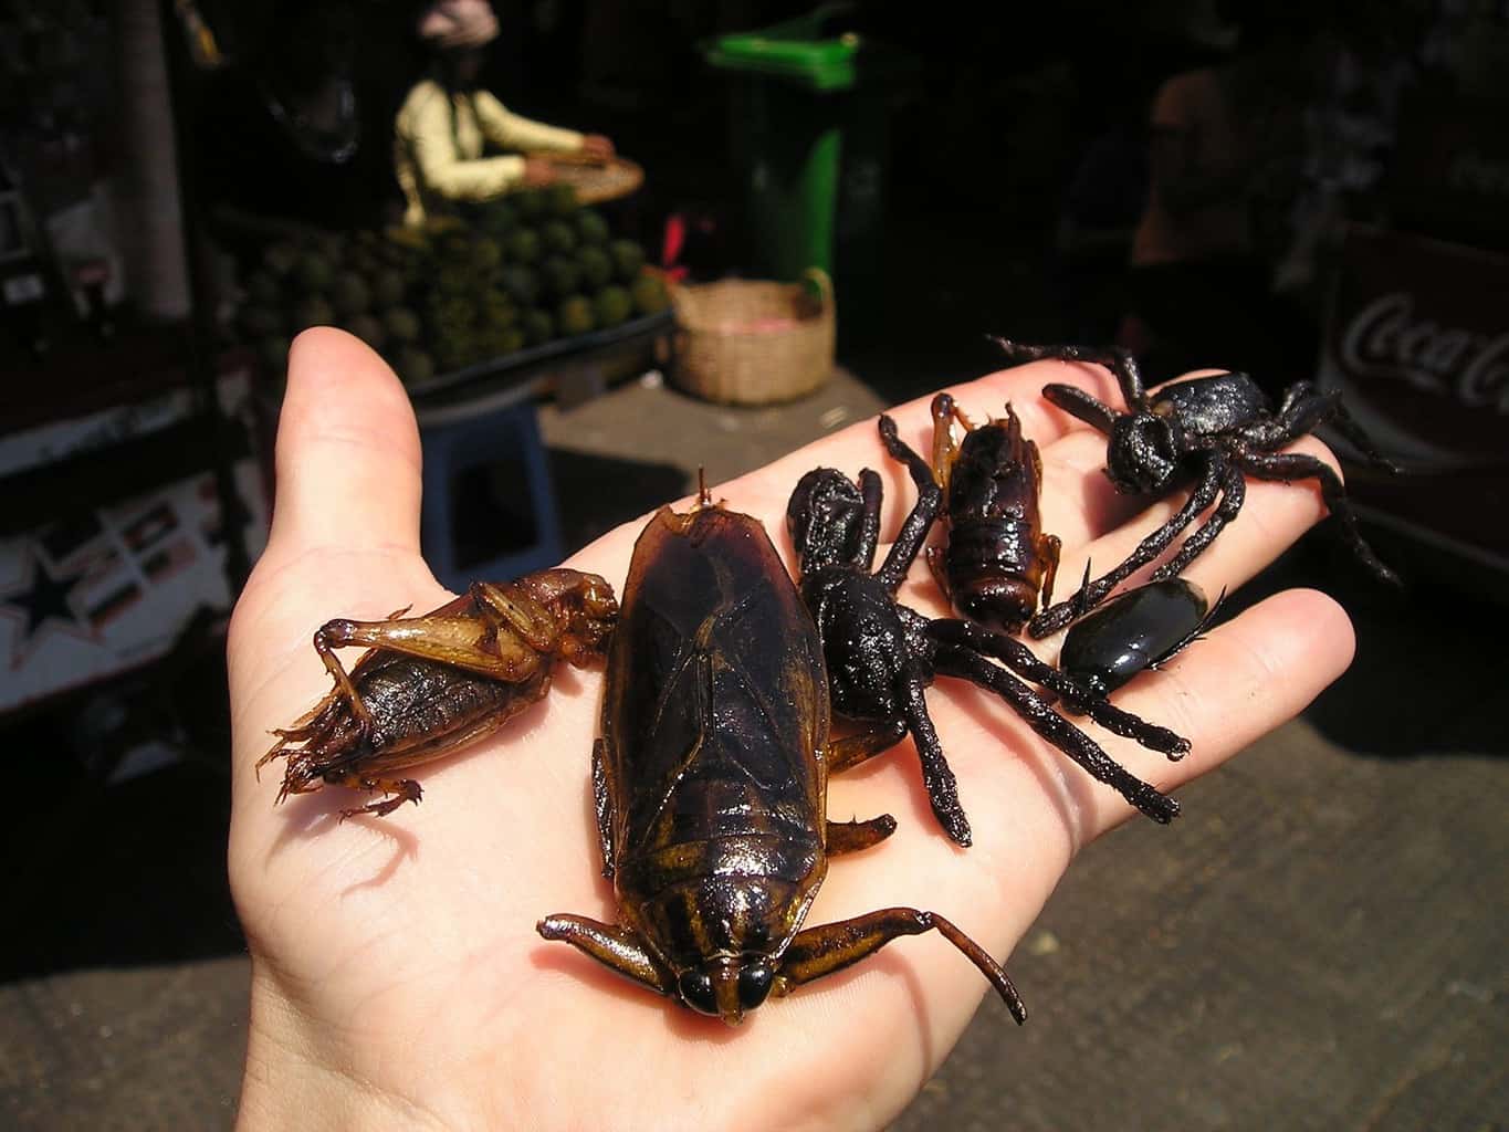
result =
[{"label": "upright thumb of the open hand", "polygon": [[332,328],[288,352],[269,552],[420,549],[420,432],[386,362]]}]

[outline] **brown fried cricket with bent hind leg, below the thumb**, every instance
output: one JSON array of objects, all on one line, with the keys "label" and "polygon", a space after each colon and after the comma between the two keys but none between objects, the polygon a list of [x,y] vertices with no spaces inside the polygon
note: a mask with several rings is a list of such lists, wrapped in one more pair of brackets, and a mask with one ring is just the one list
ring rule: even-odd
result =
[{"label": "brown fried cricket with bent hind leg, below the thumb", "polygon": [[[314,634],[335,687],[297,723],[273,734],[257,768],[285,758],[278,801],[324,783],[382,791],[341,811],[377,817],[423,791],[403,771],[481,740],[551,688],[558,660],[584,666],[604,651],[617,617],[596,574],[554,569],[513,583],[474,583],[423,617],[337,619]],[[335,649],[365,644],[347,673]]]}]

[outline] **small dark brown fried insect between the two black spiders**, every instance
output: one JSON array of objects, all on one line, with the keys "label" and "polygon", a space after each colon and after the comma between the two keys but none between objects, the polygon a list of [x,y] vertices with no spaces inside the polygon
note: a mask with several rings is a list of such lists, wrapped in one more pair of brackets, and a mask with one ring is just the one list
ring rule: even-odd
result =
[{"label": "small dark brown fried insect between the two black spiders", "polygon": [[[954,421],[964,439],[954,441]],[[940,392],[933,398],[933,475],[943,489],[945,546],[930,546],[933,577],[961,614],[1017,632],[1053,599],[1059,542],[1043,533],[1043,459],[1011,406],[982,426]]]}]

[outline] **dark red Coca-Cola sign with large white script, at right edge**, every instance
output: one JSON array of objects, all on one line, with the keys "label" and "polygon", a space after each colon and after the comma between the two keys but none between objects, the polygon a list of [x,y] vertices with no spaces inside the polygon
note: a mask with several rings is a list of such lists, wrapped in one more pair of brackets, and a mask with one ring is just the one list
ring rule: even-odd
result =
[{"label": "dark red Coca-Cola sign with large white script, at right edge", "polygon": [[1509,463],[1509,258],[1354,229],[1322,382],[1418,471]]}]

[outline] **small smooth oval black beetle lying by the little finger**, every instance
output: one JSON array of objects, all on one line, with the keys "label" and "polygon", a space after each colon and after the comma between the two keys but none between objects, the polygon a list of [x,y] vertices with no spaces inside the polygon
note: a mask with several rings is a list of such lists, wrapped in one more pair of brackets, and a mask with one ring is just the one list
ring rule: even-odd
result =
[{"label": "small smooth oval black beetle lying by the little finger", "polygon": [[1186,578],[1138,586],[1068,626],[1058,667],[1109,696],[1139,672],[1177,655],[1213,616],[1204,592]]}]

